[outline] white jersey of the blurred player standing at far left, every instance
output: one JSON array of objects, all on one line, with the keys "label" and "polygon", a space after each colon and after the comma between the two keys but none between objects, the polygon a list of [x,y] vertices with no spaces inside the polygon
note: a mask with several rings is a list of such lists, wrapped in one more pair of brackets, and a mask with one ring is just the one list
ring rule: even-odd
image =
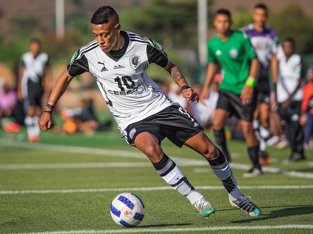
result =
[{"label": "white jersey of the blurred player standing at far left", "polygon": [[20,67],[23,68],[22,75],[22,96],[27,96],[27,81],[41,84],[45,76],[45,68],[49,65],[49,56],[45,52],[40,52],[36,58],[29,51],[21,56]]}]

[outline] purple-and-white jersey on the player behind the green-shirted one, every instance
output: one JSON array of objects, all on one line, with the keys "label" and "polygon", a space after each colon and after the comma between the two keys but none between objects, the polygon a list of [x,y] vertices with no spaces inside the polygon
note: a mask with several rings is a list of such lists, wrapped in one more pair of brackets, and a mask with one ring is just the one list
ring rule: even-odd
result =
[{"label": "purple-and-white jersey on the player behind the green-shirted one", "polygon": [[268,69],[273,54],[276,54],[278,36],[274,29],[265,27],[263,32],[255,30],[253,23],[243,27],[265,69]]}]

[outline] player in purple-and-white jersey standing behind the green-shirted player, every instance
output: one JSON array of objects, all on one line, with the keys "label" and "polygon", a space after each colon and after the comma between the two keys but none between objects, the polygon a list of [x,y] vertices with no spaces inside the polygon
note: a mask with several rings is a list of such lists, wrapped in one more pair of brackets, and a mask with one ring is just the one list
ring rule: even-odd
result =
[{"label": "player in purple-and-white jersey standing behind the green-shirted player", "polygon": [[262,65],[257,85],[254,88],[257,93],[258,106],[257,110],[254,112],[253,119],[253,128],[260,141],[259,156],[260,162],[262,162],[262,164],[271,163],[271,159],[266,153],[266,141],[270,138],[272,138],[271,141],[274,140],[274,142],[271,144],[277,143],[279,141],[279,137],[273,137],[273,135],[268,130],[270,103],[268,70],[269,66],[271,65],[272,73],[274,76],[277,75],[278,68],[275,55],[277,50],[278,37],[274,29],[266,26],[267,19],[267,6],[263,3],[258,3],[254,6],[253,23],[241,29],[248,35]]}]

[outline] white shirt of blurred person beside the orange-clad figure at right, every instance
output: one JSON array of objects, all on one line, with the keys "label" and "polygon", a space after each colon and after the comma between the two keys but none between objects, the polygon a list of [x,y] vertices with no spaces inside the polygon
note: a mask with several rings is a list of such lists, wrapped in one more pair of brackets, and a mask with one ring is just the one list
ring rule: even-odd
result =
[{"label": "white shirt of blurred person beside the orange-clad figure at right", "polygon": [[[286,56],[283,51],[277,53],[278,66],[278,80],[277,80],[277,102],[283,103],[294,92],[299,78],[304,78],[304,71],[302,68],[301,56],[293,54],[286,61]],[[292,101],[302,100],[302,89],[304,82],[300,88],[293,95]]]}]

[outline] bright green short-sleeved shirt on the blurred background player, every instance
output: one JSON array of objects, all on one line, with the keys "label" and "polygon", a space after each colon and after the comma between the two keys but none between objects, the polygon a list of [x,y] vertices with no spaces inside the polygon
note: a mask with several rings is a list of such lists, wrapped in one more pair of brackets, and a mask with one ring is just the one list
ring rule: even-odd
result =
[{"label": "bright green short-sleeved shirt on the blurred background player", "polygon": [[251,59],[257,55],[246,33],[232,31],[226,41],[219,35],[208,42],[209,62],[222,66],[220,90],[241,94],[250,73]]}]

